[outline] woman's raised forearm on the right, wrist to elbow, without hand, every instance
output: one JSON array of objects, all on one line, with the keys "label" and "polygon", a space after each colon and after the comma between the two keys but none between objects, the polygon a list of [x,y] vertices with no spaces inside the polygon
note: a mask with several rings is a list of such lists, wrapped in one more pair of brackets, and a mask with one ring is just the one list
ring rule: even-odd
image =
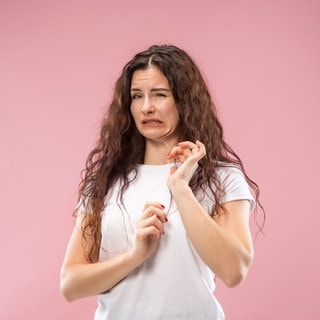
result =
[{"label": "woman's raised forearm on the right, wrist to elbow, without hand", "polygon": [[253,258],[250,246],[224,230],[201,207],[187,184],[170,186],[181,219],[196,251],[227,286],[235,286],[246,276]]}]

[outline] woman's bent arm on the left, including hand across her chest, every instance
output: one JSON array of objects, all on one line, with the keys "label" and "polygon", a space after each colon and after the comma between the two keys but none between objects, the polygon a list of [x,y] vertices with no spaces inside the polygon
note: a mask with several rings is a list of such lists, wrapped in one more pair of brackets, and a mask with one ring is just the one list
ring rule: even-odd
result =
[{"label": "woman's bent arm on the left, including hand across her chest", "polygon": [[[163,234],[166,215],[161,204],[146,203],[136,225],[135,242],[128,252],[103,262],[90,263],[80,231],[82,215],[77,218],[61,268],[60,289],[67,301],[106,292],[145,261],[156,249]],[[90,246],[90,243],[86,246]]]}]

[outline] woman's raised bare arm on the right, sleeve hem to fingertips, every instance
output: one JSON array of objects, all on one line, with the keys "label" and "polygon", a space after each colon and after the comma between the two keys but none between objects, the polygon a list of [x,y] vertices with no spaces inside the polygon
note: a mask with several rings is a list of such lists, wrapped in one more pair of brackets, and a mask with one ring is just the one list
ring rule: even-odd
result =
[{"label": "woman's raised bare arm on the right, sleeve hem to fingertips", "polygon": [[225,210],[214,219],[204,211],[189,187],[197,163],[204,155],[200,142],[184,142],[175,147],[170,156],[183,163],[172,169],[168,186],[198,254],[227,286],[233,287],[245,278],[253,260],[250,204],[247,200],[225,203]]}]

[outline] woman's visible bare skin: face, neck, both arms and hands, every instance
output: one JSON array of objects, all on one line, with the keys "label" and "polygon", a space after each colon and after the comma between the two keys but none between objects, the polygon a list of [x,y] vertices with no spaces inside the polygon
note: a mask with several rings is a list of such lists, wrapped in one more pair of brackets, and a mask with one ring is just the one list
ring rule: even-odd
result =
[{"label": "woman's visible bare skin: face, neck, both arms and hands", "polygon": [[[253,259],[249,229],[249,202],[224,204],[225,211],[212,219],[192,193],[189,182],[205,157],[200,141],[177,141],[178,111],[165,76],[155,67],[137,70],[132,77],[131,113],[146,139],[145,164],[161,165],[178,160],[167,185],[179,209],[186,232],[195,249],[229,287],[239,284]],[[106,292],[146,261],[157,249],[168,221],[159,202],[145,203],[136,224],[134,245],[128,252],[103,262],[85,258],[80,230],[82,214],[71,235],[61,269],[61,291],[68,301]],[[90,243],[89,243],[90,245]]]}]

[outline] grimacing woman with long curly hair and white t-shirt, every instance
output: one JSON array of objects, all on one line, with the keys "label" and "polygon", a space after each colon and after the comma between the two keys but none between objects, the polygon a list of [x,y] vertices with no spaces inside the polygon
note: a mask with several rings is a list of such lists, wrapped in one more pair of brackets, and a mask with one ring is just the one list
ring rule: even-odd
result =
[{"label": "grimacing woman with long curly hair and white t-shirt", "polygon": [[138,53],[87,159],[63,295],[98,295],[95,319],[224,319],[214,277],[236,286],[252,263],[250,186],[189,55]]}]

